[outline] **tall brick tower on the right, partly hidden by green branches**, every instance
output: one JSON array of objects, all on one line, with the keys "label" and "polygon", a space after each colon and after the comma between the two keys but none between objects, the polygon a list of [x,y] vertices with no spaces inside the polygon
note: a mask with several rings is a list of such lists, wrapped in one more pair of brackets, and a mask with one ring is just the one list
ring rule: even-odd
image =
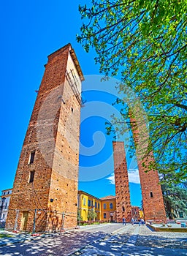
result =
[{"label": "tall brick tower on the right, partly hidden by green branches", "polygon": [[136,147],[145,221],[153,220],[154,222],[166,222],[167,218],[161,185],[159,184],[158,171],[150,170],[145,173],[146,166],[150,162],[154,162],[153,151],[148,154],[144,164],[142,161],[142,157],[146,152],[146,141],[148,143],[145,132],[146,126],[142,121],[140,121],[138,126],[136,118],[131,118],[131,127]]}]

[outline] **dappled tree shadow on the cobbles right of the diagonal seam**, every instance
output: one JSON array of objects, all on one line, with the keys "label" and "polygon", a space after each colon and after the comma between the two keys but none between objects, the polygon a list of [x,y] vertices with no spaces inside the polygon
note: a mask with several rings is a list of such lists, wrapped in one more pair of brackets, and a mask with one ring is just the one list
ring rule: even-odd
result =
[{"label": "dappled tree shadow on the cobbles right of the diagonal seam", "polygon": [[[131,241],[134,241],[131,243]],[[72,255],[187,255],[187,238],[137,236],[131,233],[106,236]]]}]

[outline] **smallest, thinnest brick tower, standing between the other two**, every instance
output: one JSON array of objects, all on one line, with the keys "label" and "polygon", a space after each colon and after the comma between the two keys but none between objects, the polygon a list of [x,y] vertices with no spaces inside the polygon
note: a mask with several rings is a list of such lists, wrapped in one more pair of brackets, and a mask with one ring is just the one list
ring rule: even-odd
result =
[{"label": "smallest, thinnest brick tower, standing between the other two", "polygon": [[124,143],[113,141],[112,144],[115,173],[116,219],[117,222],[122,222],[123,217],[125,217],[126,222],[130,222],[131,201]]}]

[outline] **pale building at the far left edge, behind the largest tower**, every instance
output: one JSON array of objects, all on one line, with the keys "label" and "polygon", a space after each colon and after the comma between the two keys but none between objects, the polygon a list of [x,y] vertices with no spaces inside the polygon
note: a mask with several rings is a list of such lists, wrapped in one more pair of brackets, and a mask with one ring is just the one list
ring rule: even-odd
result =
[{"label": "pale building at the far left edge, behind the largest tower", "polygon": [[1,192],[0,198],[0,219],[4,219],[6,221],[8,208],[9,208],[9,200],[12,195],[12,189],[4,189]]}]

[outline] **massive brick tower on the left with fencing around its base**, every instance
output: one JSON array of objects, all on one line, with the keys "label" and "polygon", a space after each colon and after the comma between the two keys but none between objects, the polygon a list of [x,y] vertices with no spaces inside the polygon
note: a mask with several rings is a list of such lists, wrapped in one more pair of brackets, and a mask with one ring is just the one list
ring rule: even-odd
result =
[{"label": "massive brick tower on the left with fencing around its base", "polygon": [[81,81],[70,44],[48,56],[9,203],[9,230],[77,225]]}]

